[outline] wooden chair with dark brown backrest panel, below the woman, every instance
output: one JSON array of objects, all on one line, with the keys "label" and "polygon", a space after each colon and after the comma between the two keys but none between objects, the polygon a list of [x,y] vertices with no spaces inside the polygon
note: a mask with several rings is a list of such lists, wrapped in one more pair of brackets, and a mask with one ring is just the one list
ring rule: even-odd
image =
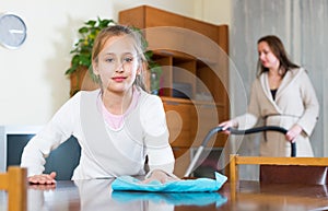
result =
[{"label": "wooden chair with dark brown backrest panel, below the woman", "polygon": [[260,166],[261,183],[328,184],[328,157],[230,156],[230,181],[238,181],[238,165]]}]

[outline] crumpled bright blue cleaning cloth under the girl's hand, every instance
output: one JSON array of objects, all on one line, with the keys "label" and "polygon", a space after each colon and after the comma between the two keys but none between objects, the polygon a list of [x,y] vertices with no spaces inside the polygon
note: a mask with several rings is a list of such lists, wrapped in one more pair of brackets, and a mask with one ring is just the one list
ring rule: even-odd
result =
[{"label": "crumpled bright blue cleaning cloth under the girl's hand", "polygon": [[153,180],[149,184],[142,184],[141,180],[131,176],[117,177],[113,184],[113,190],[134,190],[152,192],[200,192],[216,191],[226,181],[227,177],[215,172],[215,179],[198,178],[183,179],[162,184]]}]

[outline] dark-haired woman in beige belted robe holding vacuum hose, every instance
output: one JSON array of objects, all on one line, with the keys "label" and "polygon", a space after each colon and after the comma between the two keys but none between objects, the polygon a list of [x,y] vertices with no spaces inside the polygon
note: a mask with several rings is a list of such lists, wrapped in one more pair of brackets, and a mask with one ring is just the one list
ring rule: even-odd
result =
[{"label": "dark-haired woman in beige belted robe holding vacuum hose", "polygon": [[290,156],[290,142],[295,142],[296,156],[314,156],[309,136],[318,119],[319,105],[307,72],[288,58],[277,36],[261,37],[257,44],[259,73],[251,85],[248,110],[219,126],[224,130],[251,128],[263,119],[267,126],[280,126],[288,132],[285,137],[266,132],[260,142],[260,155]]}]

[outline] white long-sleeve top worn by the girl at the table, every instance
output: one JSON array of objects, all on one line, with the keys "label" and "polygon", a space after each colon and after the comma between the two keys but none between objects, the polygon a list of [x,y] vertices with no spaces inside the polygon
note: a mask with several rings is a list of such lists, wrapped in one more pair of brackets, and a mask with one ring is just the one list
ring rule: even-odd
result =
[{"label": "white long-sleeve top worn by the girl at the table", "polygon": [[143,175],[147,155],[150,171],[172,173],[174,155],[163,103],[159,96],[140,92],[119,129],[112,129],[104,120],[96,103],[99,90],[77,93],[26,144],[21,166],[27,168],[28,176],[42,174],[45,157],[74,136],[81,157],[72,179]]}]

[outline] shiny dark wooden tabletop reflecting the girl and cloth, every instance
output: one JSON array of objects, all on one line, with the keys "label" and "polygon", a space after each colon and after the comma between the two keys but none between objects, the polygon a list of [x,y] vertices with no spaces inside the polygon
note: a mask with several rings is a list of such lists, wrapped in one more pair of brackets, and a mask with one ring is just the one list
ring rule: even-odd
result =
[{"label": "shiny dark wooden tabletop reflecting the girl and cloth", "polygon": [[[218,192],[154,194],[113,191],[112,179],[58,181],[56,188],[30,186],[28,211],[211,211],[328,210],[328,186],[239,181]],[[5,192],[0,210],[5,211]]]}]

